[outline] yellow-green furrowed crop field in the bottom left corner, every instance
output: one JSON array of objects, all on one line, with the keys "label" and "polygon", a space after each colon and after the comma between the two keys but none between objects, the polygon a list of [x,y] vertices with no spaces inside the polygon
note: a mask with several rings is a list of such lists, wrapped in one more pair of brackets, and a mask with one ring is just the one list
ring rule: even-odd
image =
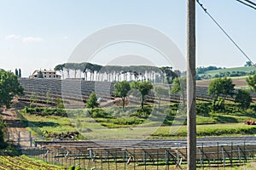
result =
[{"label": "yellow-green furrowed crop field in the bottom left corner", "polygon": [[61,167],[44,163],[43,161],[35,161],[26,156],[0,156],[0,169],[17,169],[17,170],[59,170]]}]

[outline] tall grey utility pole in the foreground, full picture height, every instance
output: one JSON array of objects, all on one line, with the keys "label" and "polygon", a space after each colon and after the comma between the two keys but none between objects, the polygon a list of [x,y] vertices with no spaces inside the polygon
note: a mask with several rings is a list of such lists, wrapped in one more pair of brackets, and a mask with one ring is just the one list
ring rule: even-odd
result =
[{"label": "tall grey utility pole in the foreground, full picture height", "polygon": [[188,170],[196,169],[195,0],[187,0],[187,129]]}]

